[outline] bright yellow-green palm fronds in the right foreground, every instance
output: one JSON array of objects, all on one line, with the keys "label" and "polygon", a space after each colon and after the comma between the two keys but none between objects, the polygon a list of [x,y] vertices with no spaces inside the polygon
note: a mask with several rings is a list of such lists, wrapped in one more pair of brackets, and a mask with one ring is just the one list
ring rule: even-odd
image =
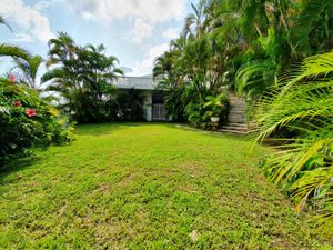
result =
[{"label": "bright yellow-green palm fronds in the right foreground", "polygon": [[316,210],[327,227],[333,226],[332,72],[332,52],[307,58],[300,72],[259,101],[255,113],[258,140],[284,128],[301,134],[284,139],[289,143],[266,161],[266,172],[296,198],[299,211]]}]

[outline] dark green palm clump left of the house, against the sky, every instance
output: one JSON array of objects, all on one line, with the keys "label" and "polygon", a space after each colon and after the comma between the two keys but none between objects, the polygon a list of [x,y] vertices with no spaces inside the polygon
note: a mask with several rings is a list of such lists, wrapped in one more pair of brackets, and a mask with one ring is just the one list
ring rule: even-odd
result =
[{"label": "dark green palm clump left of the house, against the sky", "polygon": [[105,56],[103,44],[80,47],[67,33],[49,41],[47,66],[42,77],[48,91],[60,94],[60,108],[79,123],[114,120],[117,102],[113,80],[122,74],[118,59]]}]

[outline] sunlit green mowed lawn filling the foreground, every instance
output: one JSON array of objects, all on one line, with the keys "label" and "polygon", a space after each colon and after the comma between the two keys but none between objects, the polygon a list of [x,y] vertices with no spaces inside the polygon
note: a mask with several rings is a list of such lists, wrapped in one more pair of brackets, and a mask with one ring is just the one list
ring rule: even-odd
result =
[{"label": "sunlit green mowed lawn filling the foreground", "polygon": [[77,132],[1,170],[0,249],[331,249],[262,176],[268,148],[172,124]]}]

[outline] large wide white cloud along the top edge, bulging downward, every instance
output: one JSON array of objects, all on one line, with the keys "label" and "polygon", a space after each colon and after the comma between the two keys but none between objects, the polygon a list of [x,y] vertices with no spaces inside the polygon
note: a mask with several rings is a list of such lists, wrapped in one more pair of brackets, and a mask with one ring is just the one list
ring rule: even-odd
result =
[{"label": "large wide white cloud along the top edge, bulging downward", "polygon": [[186,9],[186,0],[62,0],[62,3],[88,20],[132,21],[133,29],[125,39],[139,44],[152,36],[158,23],[182,20]]}]

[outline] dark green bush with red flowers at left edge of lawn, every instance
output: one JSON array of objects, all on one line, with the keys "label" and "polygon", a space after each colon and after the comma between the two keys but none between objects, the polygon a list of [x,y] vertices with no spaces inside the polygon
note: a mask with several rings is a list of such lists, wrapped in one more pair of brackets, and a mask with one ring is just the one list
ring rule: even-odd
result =
[{"label": "dark green bush with red flowers at left edge of lawn", "polygon": [[65,117],[43,101],[36,90],[0,79],[0,164],[31,147],[67,143],[73,139]]}]

